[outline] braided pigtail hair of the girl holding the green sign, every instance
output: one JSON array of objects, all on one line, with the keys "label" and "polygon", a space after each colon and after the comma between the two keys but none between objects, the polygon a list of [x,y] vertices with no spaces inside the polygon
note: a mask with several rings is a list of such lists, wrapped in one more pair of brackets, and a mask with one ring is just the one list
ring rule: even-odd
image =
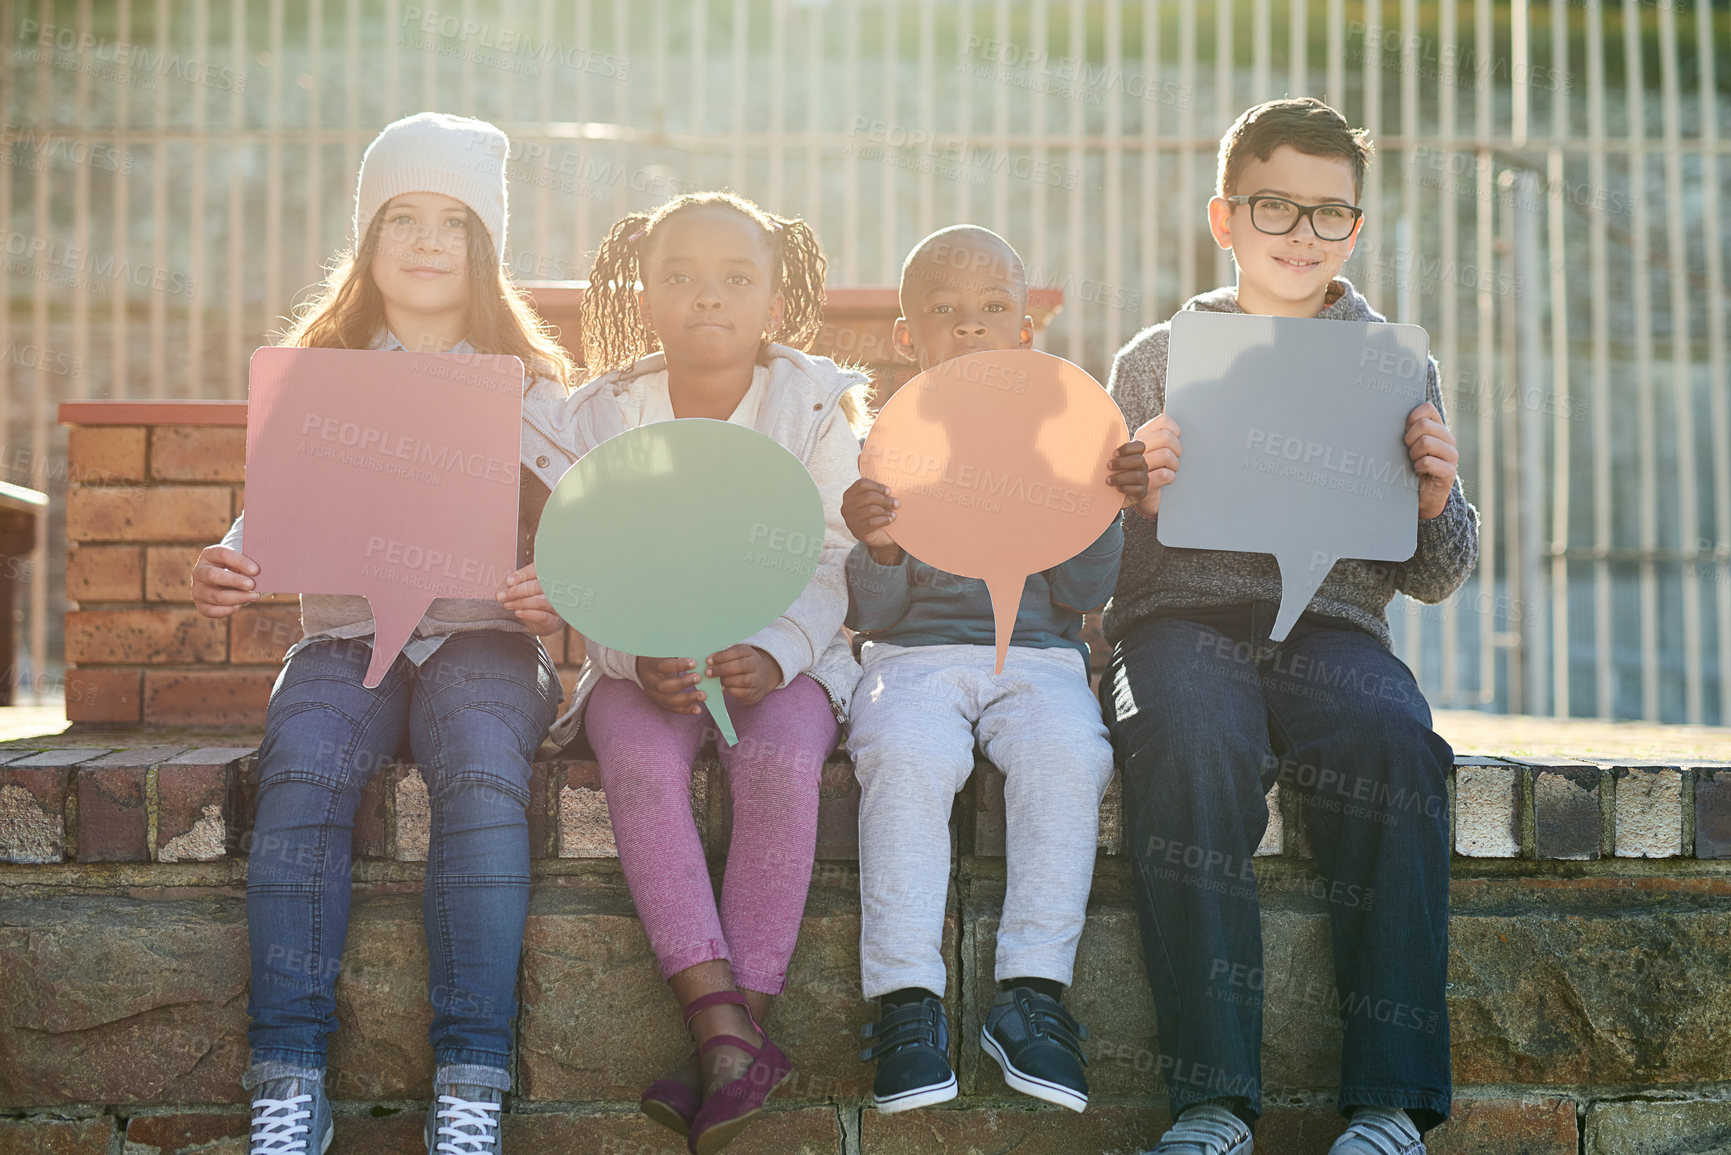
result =
[{"label": "braided pigtail hair of the girl holding the green sign", "polygon": [[670,216],[698,208],[730,208],[763,229],[774,289],[782,296],[781,327],[770,336],[798,350],[810,348],[817,338],[824,324],[824,272],[829,261],[812,227],[798,216],[767,213],[732,192],[687,192],[654,211],[620,218],[595,249],[582,306],[583,362],[590,374],[625,369],[661,348],[637,308],[637,286],[656,229]]}]

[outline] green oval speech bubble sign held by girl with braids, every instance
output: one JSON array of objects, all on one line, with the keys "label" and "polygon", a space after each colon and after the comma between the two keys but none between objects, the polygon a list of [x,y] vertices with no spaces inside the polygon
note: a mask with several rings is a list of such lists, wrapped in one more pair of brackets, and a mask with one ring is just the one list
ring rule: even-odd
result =
[{"label": "green oval speech bubble sign held by girl with braids", "polygon": [[[585,637],[696,658],[701,674],[788,611],[822,551],[824,502],[798,457],[756,429],[687,417],[611,436],[559,478],[535,571]],[[736,745],[720,681],[698,687]]]}]

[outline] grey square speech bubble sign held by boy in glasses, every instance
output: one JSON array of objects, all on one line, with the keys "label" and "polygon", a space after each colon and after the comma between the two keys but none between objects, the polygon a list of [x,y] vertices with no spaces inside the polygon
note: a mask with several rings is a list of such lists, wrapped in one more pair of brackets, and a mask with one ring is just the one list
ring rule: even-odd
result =
[{"label": "grey square speech bubble sign held by boy in glasses", "polygon": [[1184,464],[1160,497],[1160,542],[1274,554],[1271,641],[1286,637],[1340,558],[1411,558],[1418,474],[1406,419],[1425,402],[1428,358],[1418,326],[1177,313],[1167,412]]}]

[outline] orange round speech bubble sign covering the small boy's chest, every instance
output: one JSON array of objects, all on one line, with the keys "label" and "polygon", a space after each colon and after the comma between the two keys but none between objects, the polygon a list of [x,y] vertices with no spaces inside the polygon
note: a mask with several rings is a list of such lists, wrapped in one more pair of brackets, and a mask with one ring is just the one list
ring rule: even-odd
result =
[{"label": "orange round speech bubble sign covering the small boy's chest", "polygon": [[987,584],[1002,674],[1028,575],[1075,558],[1118,516],[1106,466],[1127,440],[1118,405],[1078,365],[1037,350],[966,353],[885,403],[860,476],[902,502],[897,545]]}]

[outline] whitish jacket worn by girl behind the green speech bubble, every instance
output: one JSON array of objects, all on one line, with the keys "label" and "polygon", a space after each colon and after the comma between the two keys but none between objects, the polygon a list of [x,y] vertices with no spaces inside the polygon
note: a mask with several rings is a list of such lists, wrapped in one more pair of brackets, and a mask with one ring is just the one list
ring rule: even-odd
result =
[{"label": "whitish jacket worn by girl behind the green speech bubble", "polygon": [[[571,450],[582,455],[609,436],[635,429],[642,424],[647,377],[663,369],[666,358],[653,353],[630,369],[595,377],[569,397],[559,390],[531,390],[523,402],[524,461],[557,461]],[[848,701],[860,677],[841,630],[841,618],[848,610],[845,565],[853,549],[853,535],[841,519],[841,494],[859,480],[860,452],[859,435],[848,424],[841,397],[867,381],[866,374],[843,369],[827,357],[770,345],[767,393],[755,423],[758,433],[786,447],[817,481],[824,499],[824,549],[817,573],[798,601],[744,641],[775,658],[782,686],[800,674],[810,674],[829,694],[838,722],[846,720]],[[571,701],[552,726],[552,739],[561,746],[576,736],[583,705],[602,677],[640,684],[637,656],[589,642]]]}]

